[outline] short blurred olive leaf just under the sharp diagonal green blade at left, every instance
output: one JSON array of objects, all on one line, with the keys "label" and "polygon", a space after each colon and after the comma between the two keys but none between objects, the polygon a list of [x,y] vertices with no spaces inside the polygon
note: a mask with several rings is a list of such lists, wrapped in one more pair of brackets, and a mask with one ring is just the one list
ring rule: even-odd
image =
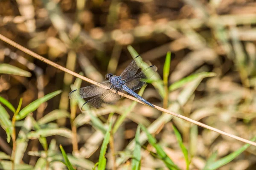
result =
[{"label": "short blurred olive leaf just under the sharp diagonal green blade at left", "polygon": [[39,119],[38,124],[43,125],[43,124],[52,122],[54,120],[61,119],[61,118],[67,118],[67,117],[70,117],[70,114],[68,113],[68,111],[56,109],[54,111],[51,111],[50,113],[48,113],[41,119]]}]

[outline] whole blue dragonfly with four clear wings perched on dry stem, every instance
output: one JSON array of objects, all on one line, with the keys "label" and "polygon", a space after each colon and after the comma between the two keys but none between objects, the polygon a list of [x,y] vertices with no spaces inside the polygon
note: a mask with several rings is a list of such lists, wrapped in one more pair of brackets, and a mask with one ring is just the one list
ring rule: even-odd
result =
[{"label": "whole blue dragonfly with four clear wings perched on dry stem", "polygon": [[[107,81],[73,90],[70,92],[69,98],[84,99],[93,97],[85,102],[81,108],[82,111],[87,111],[93,108],[100,108],[105,105],[114,104],[121,98],[121,96],[117,94],[117,91],[122,93],[126,91],[140,101],[154,108],[154,105],[134,92],[145,85],[147,80],[157,71],[157,67],[155,65],[151,65],[150,67],[136,74],[141,63],[142,58],[137,56],[134,58],[131,64],[125,68],[120,76],[115,76],[111,73],[106,74],[105,78]],[[108,89],[104,88],[104,86],[108,87]]]}]

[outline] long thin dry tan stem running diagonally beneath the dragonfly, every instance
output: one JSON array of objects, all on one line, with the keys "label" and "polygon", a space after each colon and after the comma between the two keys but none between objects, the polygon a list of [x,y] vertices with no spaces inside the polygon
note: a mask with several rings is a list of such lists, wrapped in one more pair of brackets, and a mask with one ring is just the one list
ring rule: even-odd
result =
[{"label": "long thin dry tan stem running diagonally beneath the dragonfly", "polygon": [[[8,44],[10,44],[10,45],[12,45],[12,46],[14,46],[15,48],[17,48],[17,49],[19,49],[19,50],[25,52],[26,54],[29,54],[29,55],[31,55],[32,57],[35,57],[35,58],[37,58],[37,59],[39,59],[39,60],[41,60],[41,61],[43,61],[43,62],[45,62],[45,63],[47,63],[47,64],[49,64],[49,65],[52,65],[52,66],[55,67],[55,68],[58,68],[58,69],[61,70],[61,71],[64,71],[64,72],[66,72],[66,73],[69,73],[69,74],[71,74],[71,75],[73,75],[73,76],[75,76],[75,77],[78,77],[78,78],[80,78],[80,79],[82,79],[82,80],[84,80],[84,81],[90,82],[91,84],[97,84],[97,82],[95,82],[95,81],[93,81],[93,80],[91,80],[91,79],[88,79],[87,77],[81,76],[81,75],[78,74],[78,73],[75,73],[75,72],[73,72],[73,71],[70,71],[69,69],[64,68],[63,66],[58,65],[58,64],[56,64],[55,62],[52,62],[52,61],[50,61],[49,59],[46,59],[46,58],[42,57],[41,55],[36,54],[36,53],[33,52],[33,51],[30,51],[29,49],[23,47],[22,45],[17,44],[16,42],[14,42],[14,41],[10,40],[9,38],[3,36],[2,34],[0,34],[0,39],[3,40],[4,42],[6,42],[6,43],[8,43]],[[103,87],[103,88],[106,88],[106,89],[107,89],[108,87]],[[113,91],[113,92],[115,93],[115,91]],[[121,93],[121,92],[118,92],[118,94],[121,95],[121,96],[124,96],[124,97],[126,97],[126,98],[128,98],[128,99],[134,100],[134,101],[136,101],[136,102],[139,102],[139,103],[142,103],[143,105],[145,105],[143,102],[141,102],[140,100],[136,99],[136,98],[133,97],[133,96],[129,96],[129,95],[124,94],[124,93]],[[206,128],[206,129],[212,130],[212,131],[214,131],[214,132],[220,133],[220,134],[225,135],[225,136],[229,136],[229,137],[231,137],[231,138],[233,138],[233,139],[237,139],[237,140],[239,140],[239,141],[241,141],[241,142],[244,142],[244,143],[247,143],[247,144],[251,144],[251,145],[253,145],[253,146],[256,146],[256,142],[252,142],[252,141],[250,141],[250,140],[241,138],[241,137],[239,137],[239,136],[226,133],[226,132],[224,132],[224,131],[222,131],[222,130],[218,130],[218,129],[214,128],[214,127],[205,125],[204,123],[195,121],[195,120],[190,119],[190,118],[188,118],[188,117],[186,117],[186,116],[182,116],[182,115],[180,115],[180,114],[177,114],[177,113],[174,113],[174,112],[172,112],[172,111],[166,110],[166,109],[161,108],[161,107],[159,107],[159,106],[154,105],[154,107],[155,107],[157,110],[159,110],[159,111],[162,111],[162,112],[171,114],[172,116],[176,116],[176,117],[178,117],[178,118],[180,118],[180,119],[186,120],[186,121],[191,122],[191,123],[193,123],[193,124],[195,124],[195,125],[204,127],[204,128]]]}]

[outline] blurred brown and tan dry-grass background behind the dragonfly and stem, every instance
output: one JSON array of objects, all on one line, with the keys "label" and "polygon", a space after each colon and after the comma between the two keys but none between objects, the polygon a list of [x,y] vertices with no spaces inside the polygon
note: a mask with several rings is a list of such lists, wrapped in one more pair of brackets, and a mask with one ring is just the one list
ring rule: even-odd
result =
[{"label": "blurred brown and tan dry-grass background behind the dragonfly and stem", "polygon": [[[131,62],[135,49],[146,64],[158,68],[152,85],[149,84],[144,93],[140,91],[145,99],[245,139],[256,135],[255,26],[256,2],[253,0],[0,1],[0,34],[96,82],[103,81],[107,73],[120,75]],[[171,62],[166,77],[163,70],[168,51]],[[72,87],[90,84],[77,79],[73,85],[76,77],[3,41],[0,41],[0,62],[31,73],[28,77],[0,75],[0,95],[15,108],[20,97],[23,98],[21,108],[24,108],[53,91],[63,91],[41,104],[32,117],[39,121],[52,111],[60,113],[62,116],[51,121],[41,121],[44,122],[41,128],[65,128],[75,137],[59,136],[58,132],[46,138],[47,144],[62,144],[73,158],[87,160],[88,166],[96,163],[104,135],[92,117],[68,99]],[[115,106],[93,112],[102,127],[107,125],[109,113],[115,113],[113,118],[118,120],[125,114],[113,135],[112,151],[116,156],[111,156],[110,148],[107,151],[108,169],[129,167],[131,156],[127,154],[138,124],[148,127],[180,169],[186,169],[186,160],[172,125],[177,127],[188,149],[189,169],[203,169],[212,155],[218,160],[243,145],[148,106],[139,103],[131,106],[132,102],[121,99]],[[12,117],[13,113],[6,110]],[[18,134],[24,121],[16,123]],[[38,158],[44,157],[39,151],[45,148],[38,139],[30,139],[20,160],[36,166]],[[0,151],[11,155],[12,142],[6,141],[2,128],[0,140]],[[151,154],[155,150],[146,140],[142,136],[145,148],[141,169],[165,169],[163,162]],[[255,169],[255,149],[248,147],[219,169]],[[47,166],[64,168],[56,162]]]}]

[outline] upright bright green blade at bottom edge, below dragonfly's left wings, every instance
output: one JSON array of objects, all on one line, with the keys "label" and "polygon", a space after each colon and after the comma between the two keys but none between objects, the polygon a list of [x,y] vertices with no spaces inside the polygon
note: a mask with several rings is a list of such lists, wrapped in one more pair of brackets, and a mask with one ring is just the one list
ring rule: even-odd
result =
[{"label": "upright bright green blade at bottom edge, below dragonfly's left wings", "polygon": [[108,147],[108,143],[109,143],[109,139],[110,139],[110,130],[111,130],[111,127],[112,127],[112,121],[110,121],[108,130],[107,130],[107,132],[106,132],[106,135],[105,135],[104,140],[103,140],[103,143],[102,143],[102,147],[101,147],[101,149],[100,149],[100,154],[99,154],[99,166],[98,166],[98,169],[99,169],[99,170],[105,170],[105,167],[106,167],[107,159],[105,158],[105,154],[106,154],[107,147]]}]

